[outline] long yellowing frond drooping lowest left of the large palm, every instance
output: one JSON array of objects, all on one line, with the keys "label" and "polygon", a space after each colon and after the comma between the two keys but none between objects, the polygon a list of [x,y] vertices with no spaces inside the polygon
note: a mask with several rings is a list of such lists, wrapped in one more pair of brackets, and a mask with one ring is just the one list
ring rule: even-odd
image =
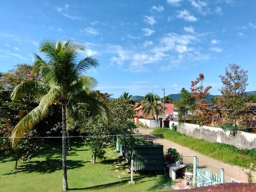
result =
[{"label": "long yellowing frond drooping lowest left of the large palm", "polygon": [[17,146],[18,142],[28,130],[31,130],[40,120],[48,115],[49,107],[54,102],[59,94],[60,88],[58,86],[52,87],[48,93],[42,97],[39,105],[29,112],[18,124],[16,124],[12,131],[11,141],[12,146]]}]

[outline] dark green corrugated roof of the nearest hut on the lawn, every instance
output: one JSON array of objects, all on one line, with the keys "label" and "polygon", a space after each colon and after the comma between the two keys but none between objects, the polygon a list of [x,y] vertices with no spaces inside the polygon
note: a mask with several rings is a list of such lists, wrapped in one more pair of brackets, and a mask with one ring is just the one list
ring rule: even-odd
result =
[{"label": "dark green corrugated roof of the nearest hut on the lawn", "polygon": [[134,170],[164,170],[163,147],[162,145],[134,146],[132,151]]}]

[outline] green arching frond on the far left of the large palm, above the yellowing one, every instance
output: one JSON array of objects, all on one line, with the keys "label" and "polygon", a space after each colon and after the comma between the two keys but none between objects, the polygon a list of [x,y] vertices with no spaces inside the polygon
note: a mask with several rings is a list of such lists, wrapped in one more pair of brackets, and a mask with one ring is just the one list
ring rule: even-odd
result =
[{"label": "green arching frond on the far left of the large palm, above the yellowing one", "polygon": [[31,81],[25,81],[21,82],[16,86],[16,88],[13,90],[11,94],[11,99],[13,101],[20,100],[24,96],[43,96],[45,95],[49,90],[49,86],[45,84],[42,81],[37,80],[31,80]]}]

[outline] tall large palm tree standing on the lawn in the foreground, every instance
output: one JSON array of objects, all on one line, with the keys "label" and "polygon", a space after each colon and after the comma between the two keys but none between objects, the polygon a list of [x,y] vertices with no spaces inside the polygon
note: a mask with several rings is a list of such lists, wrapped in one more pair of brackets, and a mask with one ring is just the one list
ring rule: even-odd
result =
[{"label": "tall large palm tree standing on the lawn in the foreground", "polygon": [[68,190],[66,165],[66,115],[79,118],[77,106],[86,104],[90,110],[100,112],[107,123],[107,110],[102,103],[88,96],[88,90],[96,86],[94,78],[83,76],[90,67],[98,66],[97,60],[86,57],[78,60],[78,51],[84,47],[68,40],[65,44],[45,40],[40,45],[40,52],[46,60],[34,54],[35,71],[40,78],[21,82],[11,94],[12,100],[19,100],[24,95],[34,95],[39,105],[28,113],[12,132],[12,146],[17,146],[25,132],[48,115],[50,106],[60,102],[62,106],[62,170],[63,190]]}]

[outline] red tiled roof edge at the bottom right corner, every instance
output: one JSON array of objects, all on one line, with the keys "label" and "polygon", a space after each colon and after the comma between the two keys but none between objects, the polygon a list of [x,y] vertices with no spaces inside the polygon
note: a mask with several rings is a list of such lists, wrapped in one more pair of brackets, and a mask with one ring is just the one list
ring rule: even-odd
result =
[{"label": "red tiled roof edge at the bottom right corner", "polygon": [[256,192],[256,183],[224,183],[207,187],[180,189],[175,190],[175,192]]}]

